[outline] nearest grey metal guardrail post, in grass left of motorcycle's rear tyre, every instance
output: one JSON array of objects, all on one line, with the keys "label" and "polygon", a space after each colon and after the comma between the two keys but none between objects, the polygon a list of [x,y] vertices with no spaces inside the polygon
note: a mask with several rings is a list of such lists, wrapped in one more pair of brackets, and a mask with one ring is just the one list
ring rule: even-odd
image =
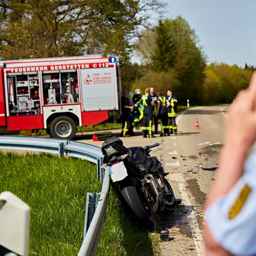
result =
[{"label": "nearest grey metal guardrail post, in grass left of motorcycle's rear tyre", "polygon": [[87,193],[86,197],[86,207],[85,207],[85,221],[84,221],[84,237],[86,232],[91,224],[93,215],[95,213],[97,202],[98,202],[98,193]]}]

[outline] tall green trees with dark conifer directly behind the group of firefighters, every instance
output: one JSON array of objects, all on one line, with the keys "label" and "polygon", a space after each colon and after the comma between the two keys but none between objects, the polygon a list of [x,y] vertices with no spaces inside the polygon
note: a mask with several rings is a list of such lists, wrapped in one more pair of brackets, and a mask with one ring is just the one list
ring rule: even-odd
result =
[{"label": "tall green trees with dark conifer directly behind the group of firefighters", "polygon": [[[151,40],[150,46],[145,44],[146,49],[151,47],[147,55],[144,54],[145,50],[141,50],[147,40],[140,38],[136,44],[137,51],[144,57],[144,63],[149,64],[147,67],[150,70],[145,76],[155,77],[153,82],[148,79],[146,87],[155,87],[156,91],[158,88],[163,91],[173,89],[179,102],[183,104],[187,99],[191,104],[202,103],[206,57],[199,46],[195,31],[190,28],[188,22],[180,16],[174,20],[160,20],[153,31],[142,31],[141,36],[154,39]],[[169,79],[162,79],[162,76]],[[136,86],[142,86],[142,91],[145,89],[143,80],[144,78],[135,81]]]}]

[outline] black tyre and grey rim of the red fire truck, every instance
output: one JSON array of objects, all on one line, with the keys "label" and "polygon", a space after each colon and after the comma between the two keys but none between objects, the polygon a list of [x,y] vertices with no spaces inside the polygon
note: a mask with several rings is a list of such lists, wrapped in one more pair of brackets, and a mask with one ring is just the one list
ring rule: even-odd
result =
[{"label": "black tyre and grey rim of the red fire truck", "polygon": [[75,121],[68,116],[58,116],[50,124],[53,138],[72,140],[76,134]]}]

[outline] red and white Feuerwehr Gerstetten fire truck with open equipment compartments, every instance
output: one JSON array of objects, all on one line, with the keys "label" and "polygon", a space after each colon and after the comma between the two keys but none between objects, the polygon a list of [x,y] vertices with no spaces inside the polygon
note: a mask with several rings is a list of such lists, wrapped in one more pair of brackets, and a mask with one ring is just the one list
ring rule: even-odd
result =
[{"label": "red and white Feuerwehr Gerstetten fire truck with open equipment compartments", "polygon": [[0,61],[0,132],[47,129],[72,139],[76,124],[95,125],[115,113],[120,93],[115,55]]}]

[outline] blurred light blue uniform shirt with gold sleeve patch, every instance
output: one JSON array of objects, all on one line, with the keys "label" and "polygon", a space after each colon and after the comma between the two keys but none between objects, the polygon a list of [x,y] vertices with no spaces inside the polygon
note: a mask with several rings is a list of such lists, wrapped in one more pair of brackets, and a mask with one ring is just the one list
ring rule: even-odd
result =
[{"label": "blurred light blue uniform shirt with gold sleeve patch", "polygon": [[[241,196],[244,188],[249,191]],[[232,209],[237,211],[230,217]],[[245,163],[243,176],[207,209],[205,221],[215,241],[227,251],[239,256],[256,255],[256,146]]]}]

